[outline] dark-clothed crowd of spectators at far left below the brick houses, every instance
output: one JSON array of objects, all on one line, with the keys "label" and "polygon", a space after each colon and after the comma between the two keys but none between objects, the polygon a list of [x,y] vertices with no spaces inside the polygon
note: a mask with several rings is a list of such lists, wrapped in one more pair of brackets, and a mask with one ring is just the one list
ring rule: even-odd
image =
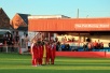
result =
[{"label": "dark-clothed crowd of spectators at far left below the brick houses", "polygon": [[[19,43],[18,31],[16,32],[6,32],[2,38],[2,46],[8,46],[11,48],[11,52],[14,52],[14,45]],[[3,47],[0,48],[3,52]]]}]

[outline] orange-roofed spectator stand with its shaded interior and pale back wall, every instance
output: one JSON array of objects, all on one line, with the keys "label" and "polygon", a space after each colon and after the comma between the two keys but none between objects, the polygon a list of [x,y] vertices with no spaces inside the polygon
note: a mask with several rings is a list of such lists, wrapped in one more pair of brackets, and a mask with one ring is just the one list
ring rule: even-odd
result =
[{"label": "orange-roofed spectator stand with its shaded interior and pale back wall", "polygon": [[[82,46],[86,39],[99,41],[108,47],[110,42],[110,17],[105,18],[28,18],[28,30],[46,32],[49,39],[73,38],[78,46]],[[54,34],[53,34],[54,33]],[[53,36],[53,38],[52,38]],[[71,42],[66,42],[71,43]]]}]

